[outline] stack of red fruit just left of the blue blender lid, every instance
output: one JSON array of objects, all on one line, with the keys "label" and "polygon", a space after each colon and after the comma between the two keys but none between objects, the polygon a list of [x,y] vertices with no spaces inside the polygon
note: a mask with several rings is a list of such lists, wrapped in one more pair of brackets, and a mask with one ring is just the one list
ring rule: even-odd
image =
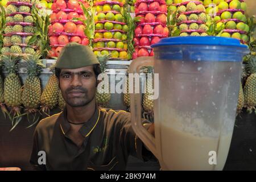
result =
[{"label": "stack of red fruit just left of the blue blender lid", "polygon": [[135,15],[141,17],[135,28],[133,59],[140,56],[154,56],[150,47],[169,35],[166,27],[167,7],[164,0],[138,0]]}]

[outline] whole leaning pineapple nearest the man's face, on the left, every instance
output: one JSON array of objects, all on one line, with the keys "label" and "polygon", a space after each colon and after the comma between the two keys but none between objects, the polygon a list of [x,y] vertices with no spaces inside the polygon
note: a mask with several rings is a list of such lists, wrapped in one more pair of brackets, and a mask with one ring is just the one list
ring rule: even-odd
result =
[{"label": "whole leaning pineapple nearest the man's face, on the left", "polygon": [[[53,72],[53,66],[51,68]],[[40,104],[43,113],[49,113],[49,109],[53,109],[57,105],[59,97],[59,80],[53,73],[43,90],[42,96],[40,98]]]}]

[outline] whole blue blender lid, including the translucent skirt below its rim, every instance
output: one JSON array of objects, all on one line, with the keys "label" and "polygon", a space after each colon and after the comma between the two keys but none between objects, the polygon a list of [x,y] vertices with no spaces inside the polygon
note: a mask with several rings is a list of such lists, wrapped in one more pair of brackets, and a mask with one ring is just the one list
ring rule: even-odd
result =
[{"label": "whole blue blender lid, including the translucent skirt below its rim", "polygon": [[164,38],[151,47],[154,48],[155,57],[160,60],[241,62],[242,56],[249,53],[248,47],[240,44],[238,39],[216,36]]}]

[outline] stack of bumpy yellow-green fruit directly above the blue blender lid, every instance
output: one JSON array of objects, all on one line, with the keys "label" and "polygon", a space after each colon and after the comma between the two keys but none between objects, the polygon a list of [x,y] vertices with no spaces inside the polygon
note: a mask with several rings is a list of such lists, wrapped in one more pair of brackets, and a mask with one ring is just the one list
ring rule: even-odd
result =
[{"label": "stack of bumpy yellow-green fruit directly above the blue blender lid", "polygon": [[207,36],[207,15],[199,1],[187,1],[177,6],[177,26],[180,36]]}]

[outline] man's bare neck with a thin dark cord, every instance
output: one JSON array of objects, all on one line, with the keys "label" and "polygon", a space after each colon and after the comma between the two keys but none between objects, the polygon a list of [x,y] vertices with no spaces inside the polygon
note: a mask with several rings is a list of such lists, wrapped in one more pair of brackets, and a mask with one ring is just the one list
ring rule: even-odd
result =
[{"label": "man's bare neck with a thin dark cord", "polygon": [[87,122],[92,118],[96,109],[96,103],[93,100],[88,105],[82,107],[71,107],[67,104],[67,118],[72,123]]}]

